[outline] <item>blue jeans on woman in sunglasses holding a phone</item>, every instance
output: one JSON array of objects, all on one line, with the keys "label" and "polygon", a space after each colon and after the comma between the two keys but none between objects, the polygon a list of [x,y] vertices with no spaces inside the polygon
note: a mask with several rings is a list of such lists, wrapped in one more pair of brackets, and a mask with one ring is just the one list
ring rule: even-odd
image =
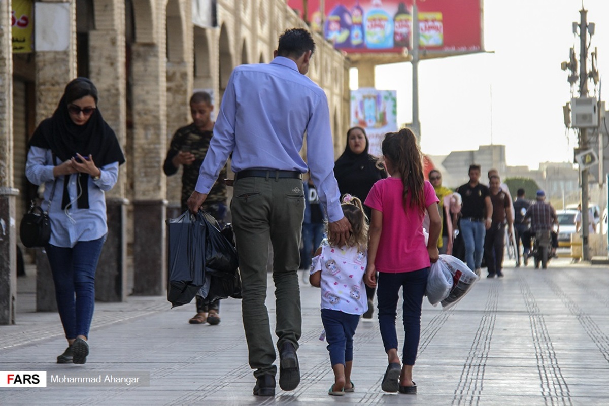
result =
[{"label": "blue jeans on woman in sunglasses holding a phone", "polygon": [[[45,247],[55,282],[55,298],[66,338],[89,337],[95,307],[95,271],[106,236],[72,248]],[[76,297],[75,297],[76,296]]]}]

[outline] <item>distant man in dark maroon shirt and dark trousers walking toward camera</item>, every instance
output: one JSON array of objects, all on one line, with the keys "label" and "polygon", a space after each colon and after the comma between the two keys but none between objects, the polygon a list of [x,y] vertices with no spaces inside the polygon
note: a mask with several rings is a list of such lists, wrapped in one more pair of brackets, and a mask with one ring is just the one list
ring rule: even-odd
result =
[{"label": "distant man in dark maroon shirt and dark trousers walking toward camera", "polygon": [[512,237],[512,200],[499,187],[501,180],[498,175],[490,177],[490,200],[493,205],[493,217],[490,228],[484,237],[484,254],[487,260],[487,278],[503,278],[503,255],[505,248],[505,224],[509,237]]}]

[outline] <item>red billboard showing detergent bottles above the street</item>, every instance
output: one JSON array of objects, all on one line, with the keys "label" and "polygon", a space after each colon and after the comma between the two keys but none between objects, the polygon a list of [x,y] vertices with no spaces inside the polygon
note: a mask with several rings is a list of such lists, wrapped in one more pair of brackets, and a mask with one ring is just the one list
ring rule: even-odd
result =
[{"label": "red billboard showing detergent bottles above the street", "polygon": [[[351,53],[400,52],[412,48],[413,0],[287,0],[323,32],[334,47]],[[431,54],[482,49],[482,0],[418,0],[419,48]],[[323,18],[322,18],[323,16]]]}]

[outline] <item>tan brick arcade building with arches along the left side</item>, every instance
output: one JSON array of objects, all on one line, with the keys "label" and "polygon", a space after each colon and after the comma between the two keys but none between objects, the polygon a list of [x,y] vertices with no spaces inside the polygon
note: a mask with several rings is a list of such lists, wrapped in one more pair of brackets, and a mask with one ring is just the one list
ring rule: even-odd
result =
[{"label": "tan brick arcade building with arches along the left side", "polygon": [[[192,23],[197,3],[215,5],[215,26]],[[34,5],[42,10],[37,24],[55,17],[70,23],[58,32],[67,45],[49,40],[44,50],[12,54],[11,2],[0,0],[0,324],[14,322],[18,223],[35,194],[24,175],[27,140],[51,116],[66,83],[77,75],[93,80],[99,108],[127,158],[118,184],[107,194],[109,234],[97,271],[97,299],[120,301],[131,293],[126,291],[127,255],[133,259],[133,293],[160,295],[167,278],[167,206],[179,201],[181,187],[180,177],[167,179],[162,166],[171,135],[191,122],[192,91],[211,90],[217,111],[235,66],[268,63],[283,30],[306,27],[284,0],[41,0]],[[35,26],[37,33],[42,29]],[[328,96],[338,154],[349,122],[350,65],[323,37],[314,38],[317,51],[308,75]],[[37,258],[38,287],[52,285],[44,256],[30,254]],[[39,298],[38,309],[51,310],[53,301]]]}]

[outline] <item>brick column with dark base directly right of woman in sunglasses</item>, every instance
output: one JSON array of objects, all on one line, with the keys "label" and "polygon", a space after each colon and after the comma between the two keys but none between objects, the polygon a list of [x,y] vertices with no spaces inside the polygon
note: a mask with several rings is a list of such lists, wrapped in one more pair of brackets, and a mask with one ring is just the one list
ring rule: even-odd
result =
[{"label": "brick column with dark base directly right of woman in sunglasses", "polygon": [[[125,2],[96,1],[94,7],[96,29],[89,32],[90,79],[99,91],[99,109],[125,151]],[[128,164],[127,161],[121,166],[116,185],[106,194],[108,237],[97,265],[95,290],[100,301],[123,301],[127,296],[125,183]]]}]

